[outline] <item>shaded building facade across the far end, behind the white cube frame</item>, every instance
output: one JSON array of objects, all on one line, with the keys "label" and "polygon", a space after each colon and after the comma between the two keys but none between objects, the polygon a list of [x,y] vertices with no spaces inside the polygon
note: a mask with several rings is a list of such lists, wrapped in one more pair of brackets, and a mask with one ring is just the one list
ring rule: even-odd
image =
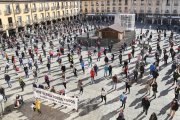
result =
[{"label": "shaded building facade across the far end, behind the white cube frame", "polygon": [[81,11],[92,18],[134,13],[136,21],[180,25],[180,0],[82,0],[81,4]]}]

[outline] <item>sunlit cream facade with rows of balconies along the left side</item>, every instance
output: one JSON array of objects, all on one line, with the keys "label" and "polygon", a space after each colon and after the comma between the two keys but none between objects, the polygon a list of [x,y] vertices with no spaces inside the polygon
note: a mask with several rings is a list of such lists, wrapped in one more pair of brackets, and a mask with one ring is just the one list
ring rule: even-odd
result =
[{"label": "sunlit cream facade with rows of balconies along the left side", "polygon": [[80,13],[78,0],[1,0],[0,7],[0,33],[6,35],[35,24],[74,19]]}]

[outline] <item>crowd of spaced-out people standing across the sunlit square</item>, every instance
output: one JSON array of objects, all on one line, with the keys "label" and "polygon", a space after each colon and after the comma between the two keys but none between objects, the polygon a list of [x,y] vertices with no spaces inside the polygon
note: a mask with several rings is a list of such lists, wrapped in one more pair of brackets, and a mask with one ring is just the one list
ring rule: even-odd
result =
[{"label": "crowd of spaced-out people standing across the sunlit square", "polygon": [[[117,84],[119,82],[125,83],[125,91],[119,95],[119,101],[122,102],[122,106],[120,107],[120,114],[118,116],[118,120],[125,119],[123,111],[126,106],[126,100],[128,99],[128,94],[130,94],[130,89],[133,87],[134,83],[140,83],[144,78],[145,72],[149,71],[148,80],[145,85],[146,95],[142,98],[142,108],[145,114],[148,114],[148,109],[150,107],[150,103],[153,99],[156,99],[156,94],[158,91],[158,84],[161,84],[158,81],[159,71],[162,69],[160,66],[160,61],[164,61],[164,66],[168,64],[172,64],[169,75],[173,75],[173,83],[174,87],[174,98],[172,98],[172,103],[170,104],[170,113],[169,115],[173,118],[175,112],[179,107],[179,90],[180,86],[178,83],[178,78],[180,77],[180,64],[179,64],[179,53],[180,46],[175,49],[175,38],[174,33],[171,31],[170,36],[167,36],[166,30],[157,29],[158,38],[156,40],[155,53],[152,51],[152,46],[150,43],[153,41],[153,33],[151,30],[146,30],[145,33],[141,31],[141,34],[137,36],[137,38],[133,39],[130,43],[122,43],[119,46],[118,54],[114,54],[112,51],[113,45],[109,45],[106,47],[102,47],[100,40],[97,39],[95,47],[87,51],[87,61],[88,64],[85,64],[85,56],[83,56],[82,51],[83,47],[88,47],[87,43],[82,40],[77,39],[79,35],[85,34],[88,31],[92,31],[94,29],[100,28],[98,23],[94,22],[82,22],[80,20],[72,20],[72,21],[64,21],[59,22],[54,25],[43,26],[39,25],[37,28],[28,29],[26,32],[21,32],[17,36],[11,36],[8,38],[1,37],[1,55],[4,61],[4,65],[1,66],[1,70],[4,70],[4,80],[7,82],[9,88],[12,87],[12,76],[9,74],[9,71],[14,70],[17,79],[19,81],[19,85],[24,91],[26,89],[26,82],[24,81],[26,78],[30,77],[30,73],[33,74],[33,87],[41,88],[49,90],[50,92],[54,92],[60,95],[66,94],[67,89],[67,69],[72,70],[74,77],[78,78],[79,73],[82,72],[85,74],[89,72],[89,78],[91,85],[96,83],[96,76],[99,76],[99,66],[98,64],[93,64],[94,62],[99,62],[101,58],[104,59],[104,78],[112,79],[112,89],[117,88]],[[107,22],[108,24],[108,22]],[[160,42],[166,41],[168,39],[169,46],[167,48],[161,48]],[[56,44],[55,41],[59,42]],[[127,60],[124,60],[123,57],[124,52],[128,51],[128,47],[130,47],[131,52],[129,52],[126,56]],[[135,48],[140,48],[140,54],[135,55]],[[108,48],[108,49],[107,49]],[[169,50],[168,50],[169,49]],[[15,53],[13,53],[15,52]],[[111,54],[111,57],[107,56],[107,53]],[[81,66],[81,70],[77,69],[77,63],[74,62],[75,55],[79,58],[78,65]],[[150,55],[154,56],[153,62],[149,63],[147,59]],[[64,64],[63,61],[65,57],[68,60],[68,64]],[[119,59],[119,70],[122,70],[120,76],[114,74],[113,66],[111,63],[114,62],[115,57]],[[137,57],[137,58],[136,58]],[[171,60],[169,60],[171,57]],[[96,59],[93,59],[96,58]],[[129,70],[129,65],[131,64],[131,59],[137,59],[134,69],[132,71]],[[55,64],[52,62],[56,59],[56,62],[59,65],[61,76],[59,79],[62,82],[64,89],[56,90],[55,86],[51,85],[51,80],[49,75],[52,73],[52,65]],[[171,62],[169,62],[171,61]],[[56,64],[57,64],[56,63]],[[145,67],[150,64],[149,70],[146,70]],[[41,73],[40,68],[47,68],[47,72],[43,73],[44,82],[47,84],[39,82],[39,73]],[[4,69],[3,69],[4,68]],[[90,68],[90,71],[88,71]],[[22,75],[21,72],[24,72]],[[83,80],[78,78],[77,89],[79,90],[79,94],[83,94],[84,86]],[[152,89],[152,90],[151,90]],[[153,92],[152,96],[151,91]],[[0,87],[0,94],[7,101],[7,97],[5,94],[4,88]],[[101,89],[101,102],[107,101],[108,92],[105,88]],[[15,107],[19,106],[20,96],[17,96]],[[33,110],[41,113],[40,110],[40,101],[36,100],[33,103]],[[36,108],[36,109],[35,109]],[[42,112],[43,113],[43,112]],[[155,113],[152,113],[150,120],[156,120],[157,116]]]}]

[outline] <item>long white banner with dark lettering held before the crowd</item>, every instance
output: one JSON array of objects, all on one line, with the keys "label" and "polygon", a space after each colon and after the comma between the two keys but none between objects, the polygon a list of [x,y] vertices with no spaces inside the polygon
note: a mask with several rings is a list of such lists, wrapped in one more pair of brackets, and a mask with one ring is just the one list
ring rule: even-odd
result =
[{"label": "long white banner with dark lettering held before the crowd", "polygon": [[34,96],[36,98],[45,100],[45,101],[51,101],[56,104],[64,105],[67,107],[71,107],[74,109],[78,109],[78,99],[77,98],[72,98],[72,97],[67,97],[63,95],[59,95],[56,93],[52,93],[43,89],[36,88],[34,90]]}]

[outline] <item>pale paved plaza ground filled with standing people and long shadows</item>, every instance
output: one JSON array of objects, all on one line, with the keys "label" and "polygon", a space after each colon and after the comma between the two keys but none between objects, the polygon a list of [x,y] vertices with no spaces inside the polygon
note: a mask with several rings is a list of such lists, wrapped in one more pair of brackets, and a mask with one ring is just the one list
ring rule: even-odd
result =
[{"label": "pale paved plaza ground filled with standing people and long shadows", "polygon": [[[70,2],[66,4],[67,6],[71,5]],[[77,2],[74,3],[74,6],[76,4],[80,5]],[[81,4],[87,4],[87,2],[82,1]],[[110,38],[103,40],[98,37],[98,34],[95,34],[95,31],[111,26],[114,23],[114,17],[106,16],[106,20],[102,20],[101,15],[96,14],[95,16],[98,16],[96,18],[94,15],[92,17],[84,12],[87,14],[86,16],[86,14],[78,13],[80,12],[78,11],[79,7],[68,7],[69,11],[72,11],[71,8],[75,9],[74,13],[70,12],[66,17],[59,16],[61,20],[57,18],[56,22],[50,24],[47,21],[42,24],[41,21],[37,22],[37,25],[32,24],[31,27],[24,25],[24,30],[19,32],[17,27],[14,27],[15,34],[11,34],[6,27],[3,28],[5,30],[3,33],[6,35],[1,35],[0,38],[0,88],[4,88],[5,94],[1,94],[6,96],[7,100],[4,100],[5,109],[0,119],[116,120],[123,114],[121,117],[125,120],[149,120],[155,113],[158,120],[179,120],[179,109],[173,117],[169,115],[172,101],[175,100],[180,104],[179,91],[175,96],[175,88],[179,84],[180,76],[179,31],[173,25],[168,26],[163,22],[161,25],[152,24],[144,18],[140,18],[144,22],[139,21],[138,18],[133,33],[130,34],[126,31],[123,40],[111,44]],[[53,13],[53,11],[51,12]],[[74,17],[70,15],[71,13]],[[169,23],[171,23],[170,20]],[[90,38],[87,37],[87,34]],[[93,40],[93,37],[96,39]],[[93,42],[91,43],[91,41]],[[24,53],[24,57],[22,53]],[[99,54],[100,60],[98,60]],[[174,57],[173,54],[175,54]],[[122,63],[120,55],[122,55]],[[165,55],[169,56],[167,64],[165,64]],[[108,62],[105,61],[105,58],[108,58]],[[23,62],[20,62],[21,59]],[[50,68],[48,68],[49,64]],[[92,77],[91,72],[95,71],[95,64],[98,67],[97,75]],[[152,64],[155,66],[154,71],[159,74],[157,78],[154,78],[154,71],[150,71]],[[175,68],[173,69],[174,64]],[[25,70],[26,66],[28,72]],[[62,66],[65,66],[64,71]],[[107,71],[105,71],[106,66],[108,66]],[[112,75],[109,75],[110,66]],[[127,73],[124,72],[126,67]],[[141,76],[142,67],[144,72]],[[137,81],[134,77],[136,68]],[[77,76],[74,73],[75,69]],[[37,75],[34,74],[34,71],[37,72]],[[178,78],[177,82],[173,84],[175,72],[177,72]],[[9,83],[11,85],[5,80],[6,75],[10,76]],[[116,89],[112,80],[115,75],[117,75]],[[46,76],[49,78],[49,85],[45,80]],[[25,83],[23,88],[19,79]],[[151,80],[153,82],[149,85]],[[154,82],[157,83],[155,92],[153,90]],[[35,88],[35,84],[37,88]],[[129,93],[126,91],[127,84],[130,84]],[[149,94],[147,85],[150,88]],[[42,89],[52,93],[53,87],[55,89],[53,94],[77,100],[77,110],[64,103],[58,104],[50,99],[45,100],[39,97],[41,112],[37,108],[33,111],[32,104],[37,100],[34,91]],[[102,92],[102,88],[105,92]],[[123,108],[120,96],[125,91],[127,99]],[[104,94],[106,101],[102,99]],[[153,96],[154,94],[156,97]],[[23,97],[23,104],[14,108],[17,95]],[[143,112],[142,106],[142,99],[145,97],[150,101],[147,115]],[[123,118],[119,120],[124,120]],[[156,119],[151,118],[150,120]]]}]

